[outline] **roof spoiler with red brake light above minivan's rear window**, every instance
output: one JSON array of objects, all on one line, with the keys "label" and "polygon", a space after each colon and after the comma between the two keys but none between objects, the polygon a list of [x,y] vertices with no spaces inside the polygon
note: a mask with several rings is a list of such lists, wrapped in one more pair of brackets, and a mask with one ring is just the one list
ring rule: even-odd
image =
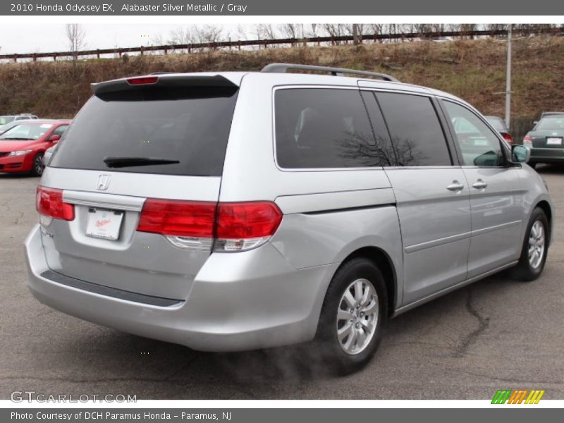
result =
[{"label": "roof spoiler with red brake light above minivan's rear window", "polygon": [[[145,80],[138,83],[132,81]],[[232,80],[221,75],[187,75],[187,74],[152,74],[135,76],[132,78],[121,78],[105,82],[90,84],[94,95],[106,94],[107,92],[139,90],[147,87],[226,87],[238,88]]]}]

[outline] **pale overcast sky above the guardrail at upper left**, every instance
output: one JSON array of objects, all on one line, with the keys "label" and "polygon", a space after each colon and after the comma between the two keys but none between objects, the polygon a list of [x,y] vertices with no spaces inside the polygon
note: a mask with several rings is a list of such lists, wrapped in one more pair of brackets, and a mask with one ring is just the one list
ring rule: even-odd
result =
[{"label": "pale overcast sky above the guardrail at upper left", "polygon": [[[115,47],[147,46],[159,35],[165,40],[171,30],[188,27],[176,23],[111,23],[81,24],[85,31],[84,49],[112,49]],[[231,32],[237,39],[236,24],[223,24],[224,32]],[[247,25],[250,28],[252,25]],[[42,53],[47,51],[68,51],[68,40],[63,23],[33,23],[0,25],[0,54]]]}]

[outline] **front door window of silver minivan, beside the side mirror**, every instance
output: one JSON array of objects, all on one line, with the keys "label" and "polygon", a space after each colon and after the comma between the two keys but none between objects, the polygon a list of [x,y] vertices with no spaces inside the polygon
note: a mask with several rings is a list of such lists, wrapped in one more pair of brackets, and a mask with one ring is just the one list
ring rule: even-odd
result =
[{"label": "front door window of silver minivan, beside the side mirror", "polygon": [[503,152],[497,135],[469,109],[448,101],[443,104],[465,166],[502,166]]}]

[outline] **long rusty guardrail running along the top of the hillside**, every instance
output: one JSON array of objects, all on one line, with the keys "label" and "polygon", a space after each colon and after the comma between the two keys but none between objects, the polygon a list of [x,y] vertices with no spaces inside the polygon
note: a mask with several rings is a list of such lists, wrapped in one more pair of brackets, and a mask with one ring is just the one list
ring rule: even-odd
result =
[{"label": "long rusty guardrail running along the top of the hillside", "polygon": [[[515,35],[529,35],[527,30],[513,30]],[[376,42],[385,40],[401,41],[405,39],[437,39],[444,37],[495,37],[507,35],[507,30],[475,30],[475,31],[444,31],[444,32],[410,32],[405,34],[364,34],[358,37],[353,35],[342,35],[339,37],[306,37],[306,38],[276,38],[276,39],[243,39],[239,41],[220,41],[220,42],[202,42],[192,44],[166,44],[160,46],[141,46],[141,47],[124,47],[118,49],[94,49],[82,51],[53,51],[50,53],[30,53],[30,54],[0,54],[0,60],[8,59],[17,62],[19,59],[53,59],[56,61],[58,58],[79,58],[82,56],[96,56],[98,59],[105,54],[114,54],[121,57],[127,53],[140,53],[145,54],[149,51],[163,51],[164,54],[168,52],[183,50],[188,53],[197,50],[209,49],[241,49],[242,47],[264,47],[279,46],[286,44],[290,46],[307,45],[307,44],[340,44],[355,42],[355,39],[360,42]],[[545,28],[536,30],[534,35],[564,35],[564,28]]]}]

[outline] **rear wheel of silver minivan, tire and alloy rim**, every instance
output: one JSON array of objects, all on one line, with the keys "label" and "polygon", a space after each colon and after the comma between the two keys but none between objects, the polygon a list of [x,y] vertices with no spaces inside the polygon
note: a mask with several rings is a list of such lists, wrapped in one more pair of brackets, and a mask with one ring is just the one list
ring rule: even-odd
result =
[{"label": "rear wheel of silver minivan, tire and alloy rim", "polygon": [[317,352],[338,374],[361,369],[378,349],[387,316],[386,283],[380,269],[369,259],[350,259],[327,289],[314,340]]}]

